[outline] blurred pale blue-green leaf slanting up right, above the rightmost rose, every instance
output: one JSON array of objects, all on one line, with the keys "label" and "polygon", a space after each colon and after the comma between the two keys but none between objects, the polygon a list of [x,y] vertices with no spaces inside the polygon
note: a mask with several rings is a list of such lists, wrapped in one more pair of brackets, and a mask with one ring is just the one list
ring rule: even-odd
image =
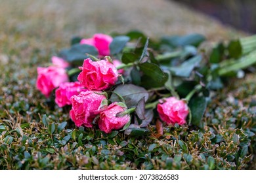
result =
[{"label": "blurred pale blue-green leaf slanting up right, above the rightmost rose", "polygon": [[193,58],[184,61],[180,66],[170,67],[171,72],[175,76],[189,77],[195,67],[199,66],[202,61],[202,56],[194,56]]}]

